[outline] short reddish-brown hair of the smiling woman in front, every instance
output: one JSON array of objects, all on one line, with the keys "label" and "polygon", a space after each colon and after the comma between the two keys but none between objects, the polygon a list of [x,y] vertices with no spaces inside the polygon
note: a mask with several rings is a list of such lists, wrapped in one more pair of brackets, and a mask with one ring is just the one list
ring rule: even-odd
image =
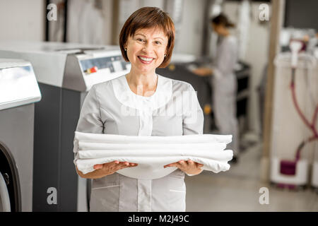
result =
[{"label": "short reddish-brown hair of the smiling woman in front", "polygon": [[170,16],[157,7],[139,8],[126,20],[119,34],[119,46],[122,51],[122,57],[124,57],[125,61],[129,61],[127,53],[124,50],[124,44],[126,44],[128,37],[134,36],[136,30],[143,28],[161,28],[165,35],[167,35],[167,53],[159,68],[166,67],[170,63],[172,50],[175,46],[175,25]]}]

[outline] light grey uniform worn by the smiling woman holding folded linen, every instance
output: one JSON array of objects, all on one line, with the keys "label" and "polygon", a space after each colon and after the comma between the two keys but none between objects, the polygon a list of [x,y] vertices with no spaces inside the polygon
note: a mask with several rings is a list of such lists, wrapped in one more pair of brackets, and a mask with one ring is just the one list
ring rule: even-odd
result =
[{"label": "light grey uniform worn by the smiling woman holding folded linen", "polygon": [[[129,136],[202,134],[204,115],[192,85],[158,75],[151,97],[133,93],[125,76],[94,85],[76,131]],[[77,155],[75,155],[77,158]],[[93,179],[90,211],[185,211],[184,172],[132,179],[117,172]]]}]

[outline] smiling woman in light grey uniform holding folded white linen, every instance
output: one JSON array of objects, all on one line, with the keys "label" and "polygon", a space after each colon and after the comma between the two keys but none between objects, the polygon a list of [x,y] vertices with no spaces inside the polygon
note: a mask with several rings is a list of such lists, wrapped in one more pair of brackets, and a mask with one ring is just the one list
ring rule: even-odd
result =
[{"label": "smiling woman in light grey uniform holding folded white linen", "polygon": [[[122,28],[119,45],[131,71],[126,76],[94,85],[86,96],[76,131],[129,136],[202,134],[204,116],[192,85],[155,73],[169,64],[175,27],[167,13],[140,8]],[[77,156],[75,156],[77,157]],[[133,179],[117,170],[134,162],[95,165],[78,175],[93,179],[90,211],[185,211],[184,173],[201,173],[203,165],[172,162],[176,167],[160,179]]]}]

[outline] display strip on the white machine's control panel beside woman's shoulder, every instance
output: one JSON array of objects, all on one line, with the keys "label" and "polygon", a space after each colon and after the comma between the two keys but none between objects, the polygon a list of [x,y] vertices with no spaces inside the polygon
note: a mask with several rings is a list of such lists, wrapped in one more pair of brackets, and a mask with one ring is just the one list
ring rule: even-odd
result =
[{"label": "display strip on the white machine's control panel beside woman's shoulder", "polygon": [[100,57],[95,59],[84,59],[81,60],[81,66],[83,72],[87,72],[89,69],[93,69],[97,67],[100,69],[110,69],[110,72],[124,71],[126,70],[126,61],[122,58],[122,56],[114,56],[114,57]]}]

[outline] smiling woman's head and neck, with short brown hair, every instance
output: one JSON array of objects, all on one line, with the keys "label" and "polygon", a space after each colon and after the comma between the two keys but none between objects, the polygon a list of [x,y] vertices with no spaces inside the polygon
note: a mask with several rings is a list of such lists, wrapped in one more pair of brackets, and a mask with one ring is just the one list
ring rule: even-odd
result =
[{"label": "smiling woman's head and neck, with short brown hair", "polygon": [[160,8],[143,7],[126,20],[119,35],[119,46],[131,71],[126,75],[133,93],[149,97],[155,93],[155,69],[170,63],[175,45],[175,25]]}]

